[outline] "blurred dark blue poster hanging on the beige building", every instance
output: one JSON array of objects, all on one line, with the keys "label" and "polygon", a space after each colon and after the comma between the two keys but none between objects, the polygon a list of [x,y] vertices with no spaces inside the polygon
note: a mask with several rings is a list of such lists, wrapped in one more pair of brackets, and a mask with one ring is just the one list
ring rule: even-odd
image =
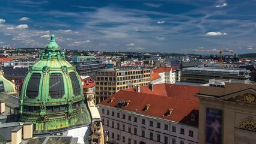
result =
[{"label": "blurred dark blue poster hanging on the beige building", "polygon": [[206,109],[206,143],[222,144],[222,110]]}]

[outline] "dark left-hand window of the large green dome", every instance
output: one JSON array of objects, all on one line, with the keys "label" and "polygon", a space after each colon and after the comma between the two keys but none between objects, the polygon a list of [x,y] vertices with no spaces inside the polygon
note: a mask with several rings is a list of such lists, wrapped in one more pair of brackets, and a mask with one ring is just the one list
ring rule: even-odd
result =
[{"label": "dark left-hand window of the large green dome", "polygon": [[28,86],[26,87],[26,97],[35,98],[38,96],[39,84],[41,74],[33,73],[29,79]]}]

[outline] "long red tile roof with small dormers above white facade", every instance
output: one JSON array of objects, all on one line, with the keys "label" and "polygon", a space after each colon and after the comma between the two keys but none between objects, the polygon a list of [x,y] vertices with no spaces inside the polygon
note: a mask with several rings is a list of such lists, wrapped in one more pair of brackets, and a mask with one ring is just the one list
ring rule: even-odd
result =
[{"label": "long red tile roof with small dormers above white facade", "polygon": [[[115,98],[109,103],[109,98]],[[118,91],[111,97],[102,101],[102,105],[114,107],[115,109],[128,110],[142,115],[153,116],[169,121],[180,122],[198,127],[199,102],[193,100],[181,100],[180,98],[162,97],[160,95],[145,94],[132,91]],[[130,101],[129,106],[124,106],[118,101]],[[148,110],[145,106],[150,104]],[[167,115],[169,109],[173,109],[171,115]],[[191,115],[196,115],[195,121],[191,121]]]}]

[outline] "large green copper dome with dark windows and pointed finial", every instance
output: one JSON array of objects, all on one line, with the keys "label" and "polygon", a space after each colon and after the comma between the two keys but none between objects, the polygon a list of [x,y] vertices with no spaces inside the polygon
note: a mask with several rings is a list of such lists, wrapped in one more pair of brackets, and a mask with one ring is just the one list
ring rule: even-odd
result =
[{"label": "large green copper dome with dark windows and pointed finial", "polygon": [[20,93],[21,121],[33,122],[34,133],[67,130],[91,123],[75,67],[52,35],[40,61],[29,67]]}]

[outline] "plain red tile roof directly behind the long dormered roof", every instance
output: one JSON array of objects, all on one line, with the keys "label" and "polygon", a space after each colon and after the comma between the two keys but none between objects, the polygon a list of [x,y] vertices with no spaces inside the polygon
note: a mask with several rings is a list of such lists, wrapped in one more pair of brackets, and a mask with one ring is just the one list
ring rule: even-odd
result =
[{"label": "plain red tile roof directly behind the long dormered roof", "polygon": [[[136,91],[135,88],[124,89],[124,91]],[[149,86],[141,86],[141,93],[161,95],[165,97],[180,98],[183,100],[199,101],[194,94],[199,93],[200,86],[174,85],[170,83],[161,83],[153,85],[153,91]]]}]

